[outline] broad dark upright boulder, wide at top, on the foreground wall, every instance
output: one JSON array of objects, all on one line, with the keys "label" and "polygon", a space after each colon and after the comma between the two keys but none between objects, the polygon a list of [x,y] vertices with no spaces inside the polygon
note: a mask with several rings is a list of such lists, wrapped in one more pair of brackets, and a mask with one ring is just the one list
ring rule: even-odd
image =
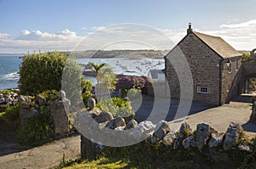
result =
[{"label": "broad dark upright boulder, wide at top, on the foreground wall", "polygon": [[217,133],[209,124],[201,123],[196,126],[195,130],[195,140],[196,146],[201,151],[201,149],[207,145],[207,141],[211,137],[212,133]]}]

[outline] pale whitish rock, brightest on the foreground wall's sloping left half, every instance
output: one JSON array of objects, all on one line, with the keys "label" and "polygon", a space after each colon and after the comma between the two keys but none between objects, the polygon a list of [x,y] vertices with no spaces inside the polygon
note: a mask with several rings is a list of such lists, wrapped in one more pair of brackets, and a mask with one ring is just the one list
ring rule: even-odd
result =
[{"label": "pale whitish rock, brightest on the foreground wall's sloping left half", "polygon": [[135,138],[148,138],[153,134],[154,127],[152,121],[142,121],[133,129],[133,136]]}]

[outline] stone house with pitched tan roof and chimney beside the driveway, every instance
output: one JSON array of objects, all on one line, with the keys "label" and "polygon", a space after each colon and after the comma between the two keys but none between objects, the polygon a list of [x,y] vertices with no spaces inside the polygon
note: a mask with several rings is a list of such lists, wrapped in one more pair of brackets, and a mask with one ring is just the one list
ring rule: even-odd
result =
[{"label": "stone house with pitched tan roof and chimney beside the driveway", "polygon": [[[193,31],[189,23],[187,35],[165,56],[171,97],[180,98],[179,80],[190,73],[183,70],[187,64],[192,81],[183,83],[193,87],[193,100],[213,105],[228,103],[242,90],[241,55],[221,37]],[[184,61],[178,61],[182,58]]]}]

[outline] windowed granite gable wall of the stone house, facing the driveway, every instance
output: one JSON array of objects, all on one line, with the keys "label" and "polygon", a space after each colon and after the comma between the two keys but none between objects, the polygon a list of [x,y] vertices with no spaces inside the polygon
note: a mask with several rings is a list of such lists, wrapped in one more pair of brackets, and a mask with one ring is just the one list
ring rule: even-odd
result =
[{"label": "windowed granite gable wall of the stone house, facing the driveway", "polygon": [[[219,66],[221,66],[221,58],[194,34],[189,34],[184,37],[183,41],[178,43],[177,46],[166,55],[166,79],[169,82],[171,97],[180,98],[179,79],[181,79],[181,77],[183,79],[189,79],[189,72],[185,71],[184,61],[178,61],[182,56],[184,56],[188,62],[192,73],[194,82],[193,99],[207,104],[219,105]],[[178,78],[176,70],[180,78]],[[189,81],[188,84],[186,84],[186,81],[183,81],[183,83],[185,83],[184,85],[188,86],[188,88],[189,85],[192,85]],[[209,93],[197,93],[197,87],[208,87]]]}]

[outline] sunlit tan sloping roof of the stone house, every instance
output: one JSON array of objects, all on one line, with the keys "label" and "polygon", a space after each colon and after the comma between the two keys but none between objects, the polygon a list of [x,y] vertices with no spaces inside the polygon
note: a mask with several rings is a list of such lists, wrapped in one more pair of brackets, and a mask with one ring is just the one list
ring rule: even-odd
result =
[{"label": "sunlit tan sloping roof of the stone house", "polygon": [[213,37],[210,35],[202,34],[192,31],[196,37],[199,37],[202,42],[205,42],[209,48],[212,48],[220,57],[226,59],[236,56],[241,56],[241,53],[231,47],[228,42],[225,42],[221,37]]}]

